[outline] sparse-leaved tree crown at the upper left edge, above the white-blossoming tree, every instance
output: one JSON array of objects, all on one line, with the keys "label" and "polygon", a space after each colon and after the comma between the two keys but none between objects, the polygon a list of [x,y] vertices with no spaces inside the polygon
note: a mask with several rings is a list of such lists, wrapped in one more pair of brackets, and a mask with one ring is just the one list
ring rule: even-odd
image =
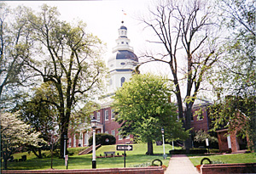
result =
[{"label": "sparse-leaved tree crown at the upper left edge, above the white-blossoming tree", "polygon": [[[0,102],[1,107],[17,92],[17,86],[25,85],[30,73],[24,73],[24,61],[29,56],[31,41],[26,27],[25,7],[10,9],[0,3]],[[9,90],[14,89],[9,92]],[[3,93],[4,92],[4,93]],[[4,95],[3,95],[4,94]]]}]

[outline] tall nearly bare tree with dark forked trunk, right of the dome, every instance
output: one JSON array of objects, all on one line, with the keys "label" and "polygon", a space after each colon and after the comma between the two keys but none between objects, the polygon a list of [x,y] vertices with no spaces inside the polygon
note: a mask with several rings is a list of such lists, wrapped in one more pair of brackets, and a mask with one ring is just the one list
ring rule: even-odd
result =
[{"label": "tall nearly bare tree with dark forked trunk, right of the dome", "polygon": [[[143,64],[159,61],[169,67],[178,115],[180,119],[184,118],[186,130],[190,129],[191,109],[204,76],[218,60],[211,5],[203,0],[160,1],[150,10],[148,19],[142,19],[156,36],[156,40],[149,42],[163,46],[157,54],[144,54]],[[191,138],[185,141],[185,148],[191,148]]]}]

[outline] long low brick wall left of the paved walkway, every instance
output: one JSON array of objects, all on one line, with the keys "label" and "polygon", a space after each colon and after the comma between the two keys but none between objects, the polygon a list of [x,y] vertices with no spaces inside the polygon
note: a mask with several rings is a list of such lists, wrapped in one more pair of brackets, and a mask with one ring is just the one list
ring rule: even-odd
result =
[{"label": "long low brick wall left of the paved walkway", "polygon": [[164,174],[164,170],[160,166],[152,167],[137,167],[137,168],[113,168],[113,169],[80,169],[80,170],[40,170],[40,171],[2,171],[2,173],[12,173],[12,174],[23,174],[23,173],[93,173],[93,174]]}]

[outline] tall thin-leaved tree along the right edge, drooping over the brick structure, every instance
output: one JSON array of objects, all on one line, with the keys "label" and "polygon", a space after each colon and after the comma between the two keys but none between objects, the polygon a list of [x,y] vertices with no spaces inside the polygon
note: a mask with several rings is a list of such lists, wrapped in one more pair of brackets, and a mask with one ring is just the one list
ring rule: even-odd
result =
[{"label": "tall thin-leaved tree along the right edge, drooping over the brick structure", "polygon": [[[230,132],[241,126],[241,133],[248,136],[251,148],[256,150],[255,3],[251,0],[221,0],[217,4],[227,32],[223,45],[224,61],[214,70],[215,78],[211,77],[218,93],[218,100],[212,107],[215,128],[230,121],[225,125]],[[236,122],[236,126],[232,122]]]}]

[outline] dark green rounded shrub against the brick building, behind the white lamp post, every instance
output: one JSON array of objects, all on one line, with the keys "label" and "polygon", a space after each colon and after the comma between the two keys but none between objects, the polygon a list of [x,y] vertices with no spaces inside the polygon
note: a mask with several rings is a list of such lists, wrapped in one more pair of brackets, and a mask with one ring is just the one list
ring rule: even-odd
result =
[{"label": "dark green rounded shrub against the brick building, behind the white lamp post", "polygon": [[[106,141],[108,139],[108,141]],[[96,133],[96,144],[111,145],[115,144],[116,139],[108,133]],[[89,145],[92,145],[92,136],[89,138]]]}]

